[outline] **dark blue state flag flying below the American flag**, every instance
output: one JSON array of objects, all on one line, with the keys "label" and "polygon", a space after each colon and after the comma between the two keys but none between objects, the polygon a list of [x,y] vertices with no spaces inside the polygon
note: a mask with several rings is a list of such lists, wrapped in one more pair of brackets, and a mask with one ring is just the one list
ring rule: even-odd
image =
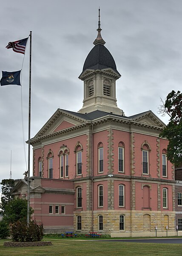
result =
[{"label": "dark blue state flag flying below the American flag", "polygon": [[20,71],[7,72],[2,71],[3,76],[0,79],[0,85],[21,85],[20,84]]}]

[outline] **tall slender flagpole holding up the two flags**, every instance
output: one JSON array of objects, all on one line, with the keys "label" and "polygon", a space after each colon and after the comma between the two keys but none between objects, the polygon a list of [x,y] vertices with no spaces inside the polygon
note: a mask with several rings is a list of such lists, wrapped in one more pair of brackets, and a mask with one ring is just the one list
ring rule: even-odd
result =
[{"label": "tall slender flagpole holding up the two flags", "polygon": [[30,65],[29,65],[29,107],[28,107],[28,190],[27,190],[27,223],[29,224],[30,208],[30,122],[31,122],[31,31],[30,31]]}]

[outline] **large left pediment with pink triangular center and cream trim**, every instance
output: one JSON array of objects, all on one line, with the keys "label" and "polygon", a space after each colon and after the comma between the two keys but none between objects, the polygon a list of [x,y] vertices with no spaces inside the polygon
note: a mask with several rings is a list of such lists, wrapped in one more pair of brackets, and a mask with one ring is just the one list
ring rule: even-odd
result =
[{"label": "large left pediment with pink triangular center and cream trim", "polygon": [[57,109],[54,115],[47,121],[47,123],[40,129],[34,138],[44,136],[53,132],[57,132],[69,127],[74,127],[79,124],[83,124],[85,120],[72,115],[64,110]]}]

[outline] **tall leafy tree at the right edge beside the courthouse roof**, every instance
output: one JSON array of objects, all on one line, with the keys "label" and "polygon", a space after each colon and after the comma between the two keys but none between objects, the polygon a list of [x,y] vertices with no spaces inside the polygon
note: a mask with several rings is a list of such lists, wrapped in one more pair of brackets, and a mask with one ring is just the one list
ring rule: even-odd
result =
[{"label": "tall leafy tree at the right edge beside the courthouse roof", "polygon": [[160,137],[169,141],[167,148],[168,160],[175,165],[182,165],[182,93],[171,91],[165,103],[159,107],[159,113],[170,116],[169,124],[163,129]]}]

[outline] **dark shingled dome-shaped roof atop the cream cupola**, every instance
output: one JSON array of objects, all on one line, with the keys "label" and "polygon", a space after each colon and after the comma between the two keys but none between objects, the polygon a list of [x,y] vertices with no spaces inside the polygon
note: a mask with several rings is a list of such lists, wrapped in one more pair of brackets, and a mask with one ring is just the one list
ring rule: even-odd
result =
[{"label": "dark shingled dome-shaped roof atop the cream cupola", "polygon": [[112,68],[119,74],[113,56],[108,49],[103,44],[96,44],[85,59],[83,71],[86,69],[101,70],[104,68]]}]

